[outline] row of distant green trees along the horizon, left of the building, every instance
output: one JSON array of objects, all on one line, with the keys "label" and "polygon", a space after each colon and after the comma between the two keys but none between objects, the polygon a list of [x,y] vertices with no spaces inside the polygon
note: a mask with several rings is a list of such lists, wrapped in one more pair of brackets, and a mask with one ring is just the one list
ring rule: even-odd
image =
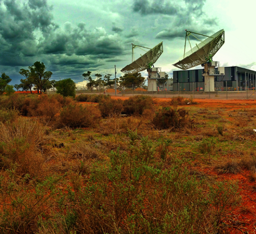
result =
[{"label": "row of distant green trees along the horizon, left of the building", "polygon": [[[5,73],[1,74],[0,77],[0,94],[14,93],[15,88],[17,91],[21,89],[22,91],[30,91],[32,93],[32,88],[37,90],[38,94],[46,92],[47,89],[55,87],[57,93],[64,96],[75,96],[76,85],[71,78],[63,79],[60,81],[50,80],[52,77],[52,72],[46,70],[46,66],[43,62],[36,61],[32,66],[28,66],[28,69],[20,69],[19,74],[23,76],[20,79],[20,84],[14,86],[9,85],[11,78]],[[107,74],[102,77],[101,74],[97,73],[91,77],[91,71],[87,71],[82,74],[84,80],[87,81],[87,88],[91,91],[95,88],[97,90],[103,88],[114,88],[115,79],[111,79],[111,74]],[[164,84],[168,79],[168,74],[165,73],[165,79],[157,80],[157,85]],[[124,74],[123,76],[116,79],[117,87],[119,88],[132,88],[143,87],[145,85],[146,79],[141,76],[141,73],[135,74]]]}]

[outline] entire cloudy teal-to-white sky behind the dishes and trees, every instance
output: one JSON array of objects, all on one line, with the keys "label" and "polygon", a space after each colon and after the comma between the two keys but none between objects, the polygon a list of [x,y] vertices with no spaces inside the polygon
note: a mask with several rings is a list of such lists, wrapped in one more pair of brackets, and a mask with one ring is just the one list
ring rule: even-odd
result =
[{"label": "entire cloudy teal-to-white sky behind the dishes and trees", "polygon": [[[18,84],[18,71],[41,61],[55,80],[79,83],[88,70],[93,78],[113,75],[114,65],[119,77],[131,62],[131,43],[153,48],[163,41],[155,67],[172,77],[185,29],[206,35],[225,29],[214,60],[256,70],[254,6],[253,0],[0,0],[0,73]],[[135,56],[143,53],[136,49]]]}]

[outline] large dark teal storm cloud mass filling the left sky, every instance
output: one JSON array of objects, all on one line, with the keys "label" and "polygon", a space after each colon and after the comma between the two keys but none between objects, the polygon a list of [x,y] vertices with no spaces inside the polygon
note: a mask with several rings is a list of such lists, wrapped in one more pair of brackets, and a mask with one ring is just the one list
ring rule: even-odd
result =
[{"label": "large dark teal storm cloud mass filling the left sky", "polygon": [[1,68],[17,72],[42,61],[47,69],[66,74],[95,69],[104,64],[102,60],[125,52],[119,35],[102,27],[88,30],[84,23],[67,22],[61,28],[46,0],[0,0],[0,48]]}]

